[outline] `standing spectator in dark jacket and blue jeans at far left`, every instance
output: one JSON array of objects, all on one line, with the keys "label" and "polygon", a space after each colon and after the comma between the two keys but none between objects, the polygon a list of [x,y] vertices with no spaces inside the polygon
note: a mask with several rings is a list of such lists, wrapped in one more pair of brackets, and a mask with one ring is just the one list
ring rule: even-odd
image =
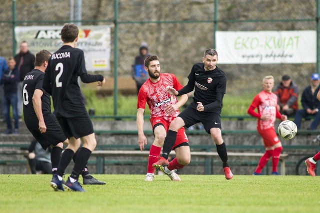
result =
[{"label": "standing spectator in dark jacket and blue jeans at far left", "polygon": [[[9,57],[8,69],[3,73],[1,84],[3,84],[3,105],[7,130],[4,134],[17,134],[19,128],[19,117],[17,113],[17,84],[19,80],[19,70],[15,67],[14,58]],[[14,130],[12,131],[12,124],[10,118],[10,105],[12,105],[12,114],[14,118]]]}]

